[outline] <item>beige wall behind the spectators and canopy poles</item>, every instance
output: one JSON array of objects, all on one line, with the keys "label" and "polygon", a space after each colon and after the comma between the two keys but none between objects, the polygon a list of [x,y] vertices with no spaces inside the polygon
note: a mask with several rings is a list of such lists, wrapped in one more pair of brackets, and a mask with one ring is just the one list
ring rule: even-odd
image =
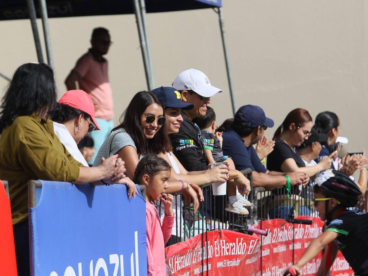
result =
[{"label": "beige wall behind the spectators and canopy poles", "polygon": [[[336,112],[350,151],[367,148],[367,2],[364,0],[224,0],[237,107],[260,105],[279,125],[295,107],[312,117]],[[116,120],[135,92],[146,89],[133,15],[50,20],[60,95],[95,26],[110,29],[107,58]],[[231,117],[217,14],[212,9],[148,15],[156,86],[187,69],[204,71],[223,93],[212,99],[218,123]],[[39,25],[41,26],[41,25]],[[11,75],[35,61],[28,20],[0,22],[0,71]],[[6,81],[0,79],[0,88]],[[272,137],[274,130],[267,130]]]}]

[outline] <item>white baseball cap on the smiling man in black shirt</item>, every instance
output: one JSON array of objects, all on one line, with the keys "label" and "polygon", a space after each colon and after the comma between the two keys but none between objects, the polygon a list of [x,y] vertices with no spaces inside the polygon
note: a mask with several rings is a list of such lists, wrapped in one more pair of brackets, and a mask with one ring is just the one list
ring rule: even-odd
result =
[{"label": "white baseball cap on the smiling man in black shirt", "polygon": [[174,80],[173,87],[176,90],[192,90],[195,93],[212,97],[221,89],[212,86],[204,72],[193,68],[181,72]]}]

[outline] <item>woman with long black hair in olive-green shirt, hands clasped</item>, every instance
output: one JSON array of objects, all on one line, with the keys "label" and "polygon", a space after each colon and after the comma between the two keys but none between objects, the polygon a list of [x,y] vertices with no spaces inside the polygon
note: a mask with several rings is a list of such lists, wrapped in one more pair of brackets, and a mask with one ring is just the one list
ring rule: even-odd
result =
[{"label": "woman with long black hair in olive-green shirt, hands clasped", "polygon": [[43,63],[18,67],[1,100],[0,179],[9,183],[18,275],[29,275],[29,180],[117,183],[124,177],[124,163],[117,156],[89,168],[66,151],[49,118],[55,103],[54,74]]}]

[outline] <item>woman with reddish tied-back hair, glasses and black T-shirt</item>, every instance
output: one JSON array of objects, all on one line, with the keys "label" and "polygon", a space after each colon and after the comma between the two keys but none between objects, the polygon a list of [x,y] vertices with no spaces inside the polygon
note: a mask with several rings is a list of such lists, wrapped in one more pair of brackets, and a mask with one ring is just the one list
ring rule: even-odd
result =
[{"label": "woman with reddish tied-back hair, glasses and black T-shirt", "polygon": [[[312,117],[307,110],[297,108],[287,114],[273,136],[275,147],[267,156],[267,169],[283,172],[302,171],[309,177],[329,169],[332,156],[327,156],[315,166],[306,167],[296,150],[296,147],[303,144],[311,135],[311,129]],[[308,181],[305,181],[305,184],[307,183]]]}]

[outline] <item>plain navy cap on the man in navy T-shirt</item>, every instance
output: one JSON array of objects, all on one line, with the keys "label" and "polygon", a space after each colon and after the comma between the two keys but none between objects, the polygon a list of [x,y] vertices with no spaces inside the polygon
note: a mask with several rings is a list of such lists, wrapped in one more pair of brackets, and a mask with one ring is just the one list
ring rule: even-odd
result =
[{"label": "plain navy cap on the man in navy T-shirt", "polygon": [[270,118],[267,118],[263,109],[256,105],[243,105],[235,113],[235,118],[241,118],[242,122],[247,127],[273,127],[275,123]]}]

